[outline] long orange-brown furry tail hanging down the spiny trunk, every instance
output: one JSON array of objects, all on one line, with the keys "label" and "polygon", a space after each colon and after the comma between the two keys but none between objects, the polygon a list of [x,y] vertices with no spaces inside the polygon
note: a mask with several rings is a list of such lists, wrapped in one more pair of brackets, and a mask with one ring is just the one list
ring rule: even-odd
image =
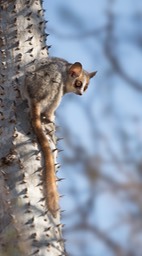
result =
[{"label": "long orange-brown furry tail hanging down the spiny trunk", "polygon": [[31,115],[32,115],[32,126],[44,156],[45,198],[47,202],[47,207],[51,212],[51,214],[53,215],[53,217],[56,217],[57,210],[59,208],[58,206],[59,196],[58,196],[57,186],[56,186],[55,164],[54,164],[53,153],[51,151],[49,141],[42,129],[39,103],[37,102],[32,103]]}]

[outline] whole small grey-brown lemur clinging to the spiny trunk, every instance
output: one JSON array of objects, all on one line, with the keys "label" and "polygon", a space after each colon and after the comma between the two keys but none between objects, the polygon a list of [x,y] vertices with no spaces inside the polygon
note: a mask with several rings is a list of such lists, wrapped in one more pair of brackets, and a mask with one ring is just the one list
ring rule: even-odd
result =
[{"label": "whole small grey-brown lemur clinging to the spiny trunk", "polygon": [[50,144],[42,129],[41,116],[46,122],[54,121],[54,112],[65,93],[82,95],[96,72],[83,70],[81,63],[68,63],[60,58],[48,58],[35,71],[27,72],[24,95],[30,107],[34,132],[41,146],[45,163],[45,198],[53,217],[58,211],[58,192],[55,166]]}]

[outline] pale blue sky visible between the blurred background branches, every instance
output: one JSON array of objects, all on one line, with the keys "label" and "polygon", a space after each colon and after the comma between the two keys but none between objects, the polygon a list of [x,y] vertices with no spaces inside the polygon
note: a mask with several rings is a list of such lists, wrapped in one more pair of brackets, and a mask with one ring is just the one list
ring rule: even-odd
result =
[{"label": "pale blue sky visible between the blurred background branches", "polygon": [[[90,87],[83,97],[65,96],[57,111],[57,122],[67,128],[73,143],[78,142],[88,154],[101,154],[106,160],[110,160],[111,156],[104,141],[109,142],[112,152],[119,160],[126,157],[126,149],[122,148],[122,142],[119,140],[119,134],[122,132],[126,137],[128,155],[138,159],[141,157],[141,153],[139,151],[138,154],[137,147],[142,142],[142,122],[140,121],[142,94],[116,72],[106,56],[104,29],[108,22],[109,2],[109,0],[52,0],[44,3],[45,17],[49,21],[47,32],[50,33],[47,43],[52,45],[50,55],[65,58],[69,62],[80,61],[88,71],[98,70],[97,76],[92,79]],[[112,44],[112,51],[117,56],[125,73],[132,80],[141,83],[142,49],[141,45],[139,46],[137,43],[137,38],[140,34],[142,35],[142,19],[138,20],[138,14],[140,17],[142,14],[142,2],[140,0],[116,0],[112,3],[114,4],[110,5],[111,11],[115,15],[115,40]],[[96,30],[101,31],[99,36],[91,33]],[[86,36],[87,34],[88,36]],[[78,40],[77,37],[80,39]],[[90,117],[93,120],[91,125],[88,121]],[[102,139],[97,135],[95,139],[92,139],[95,129],[104,136]],[[67,154],[70,154],[68,146],[65,143],[62,146]],[[66,194],[61,204],[67,211],[71,211],[75,207],[75,201],[69,194],[72,184],[78,191],[78,198],[85,207],[88,183],[82,176],[81,168],[81,163],[78,163],[75,171],[66,166],[62,166],[60,171],[61,175],[66,177],[66,181],[60,189]],[[127,176],[112,166],[104,166],[104,169],[110,176],[123,182],[126,180]],[[126,168],[129,173],[131,169]],[[96,199],[95,210],[91,214],[90,221],[92,224],[97,222],[102,230],[111,230],[111,227],[115,226],[117,222],[119,223],[120,215],[127,212],[129,207],[123,200],[116,199],[116,195],[110,195],[109,192],[102,193]],[[74,219],[76,218],[74,216]],[[71,219],[67,220],[67,225],[72,221]],[[111,236],[124,247],[127,247],[128,241],[131,240],[129,228],[123,228],[121,225],[113,230]],[[100,241],[95,242],[94,247],[93,239],[88,235],[88,239],[86,238],[88,247],[86,245],[86,251],[84,249],[84,255],[82,255],[76,245],[74,245],[73,251],[73,242],[71,242],[70,236],[69,250],[74,256],[114,255]],[[89,248],[91,248],[90,251]]]}]

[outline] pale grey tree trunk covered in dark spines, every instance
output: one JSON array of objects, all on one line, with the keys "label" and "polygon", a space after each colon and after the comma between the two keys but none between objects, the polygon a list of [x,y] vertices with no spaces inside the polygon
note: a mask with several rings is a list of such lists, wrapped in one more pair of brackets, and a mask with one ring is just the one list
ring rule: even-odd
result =
[{"label": "pale grey tree trunk covered in dark spines", "polygon": [[[47,58],[40,0],[0,1],[0,256],[64,255],[44,200],[43,157],[23,101],[25,70]],[[53,129],[53,127],[45,127]],[[50,133],[51,147],[55,138]]]}]

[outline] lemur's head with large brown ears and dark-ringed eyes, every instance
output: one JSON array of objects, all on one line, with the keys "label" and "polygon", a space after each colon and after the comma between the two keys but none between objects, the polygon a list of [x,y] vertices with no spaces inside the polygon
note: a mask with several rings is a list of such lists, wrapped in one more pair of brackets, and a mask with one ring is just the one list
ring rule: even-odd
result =
[{"label": "lemur's head with large brown ears and dark-ringed eyes", "polygon": [[73,92],[82,95],[88,88],[89,81],[96,75],[97,71],[87,72],[83,70],[80,62],[75,62],[68,69],[68,79],[65,92]]}]

